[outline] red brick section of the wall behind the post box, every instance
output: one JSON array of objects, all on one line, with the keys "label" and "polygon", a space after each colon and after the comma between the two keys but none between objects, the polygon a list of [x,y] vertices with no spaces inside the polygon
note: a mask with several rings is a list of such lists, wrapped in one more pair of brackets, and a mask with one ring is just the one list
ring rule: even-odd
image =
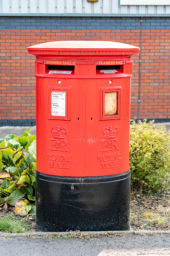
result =
[{"label": "red brick section of the wall behind the post box", "polygon": [[[170,118],[170,30],[142,31],[139,118]],[[139,30],[20,30],[1,33],[0,119],[35,119],[34,56],[27,47],[56,40],[107,40],[139,46]],[[139,56],[133,56],[131,118],[137,116]]]}]

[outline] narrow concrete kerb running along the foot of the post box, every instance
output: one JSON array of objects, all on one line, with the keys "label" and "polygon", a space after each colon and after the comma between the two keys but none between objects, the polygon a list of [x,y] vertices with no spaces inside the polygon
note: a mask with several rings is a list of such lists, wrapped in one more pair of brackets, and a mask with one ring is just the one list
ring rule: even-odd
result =
[{"label": "narrow concrete kerb running along the foot of the post box", "polygon": [[70,232],[28,232],[28,233],[0,233],[0,238],[14,238],[14,237],[74,237],[74,238],[90,238],[101,236],[129,236],[129,235],[170,235],[170,230],[148,230],[148,231],[70,231]]}]

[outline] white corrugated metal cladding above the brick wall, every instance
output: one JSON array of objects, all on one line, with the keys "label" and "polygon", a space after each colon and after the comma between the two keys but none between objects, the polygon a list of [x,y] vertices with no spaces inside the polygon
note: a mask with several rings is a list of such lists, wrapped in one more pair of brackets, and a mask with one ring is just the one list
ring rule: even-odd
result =
[{"label": "white corrugated metal cladding above the brick wall", "polygon": [[170,0],[0,0],[0,15],[168,15]]}]

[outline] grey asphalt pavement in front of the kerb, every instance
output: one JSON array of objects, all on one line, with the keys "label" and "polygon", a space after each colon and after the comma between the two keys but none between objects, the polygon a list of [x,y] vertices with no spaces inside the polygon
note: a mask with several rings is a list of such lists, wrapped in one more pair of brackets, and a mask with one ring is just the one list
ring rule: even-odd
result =
[{"label": "grey asphalt pavement in front of the kerb", "polygon": [[169,235],[99,238],[0,238],[0,254],[16,256],[154,256],[170,254]]}]

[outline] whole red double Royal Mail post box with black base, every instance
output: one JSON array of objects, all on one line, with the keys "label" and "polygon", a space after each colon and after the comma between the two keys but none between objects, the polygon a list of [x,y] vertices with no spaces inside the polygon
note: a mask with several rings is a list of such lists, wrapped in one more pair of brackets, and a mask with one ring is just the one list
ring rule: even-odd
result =
[{"label": "whole red double Royal Mail post box with black base", "polygon": [[28,47],[36,56],[36,225],[128,230],[131,55],[103,41]]}]

